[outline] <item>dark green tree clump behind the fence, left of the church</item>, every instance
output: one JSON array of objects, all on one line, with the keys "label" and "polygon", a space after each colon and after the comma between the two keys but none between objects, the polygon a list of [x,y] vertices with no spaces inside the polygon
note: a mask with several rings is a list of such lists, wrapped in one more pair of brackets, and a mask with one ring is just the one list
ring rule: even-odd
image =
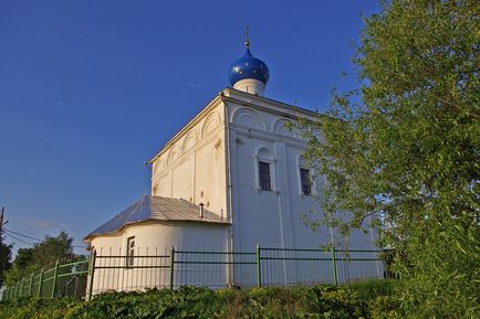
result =
[{"label": "dark green tree clump behind the fence, left of the church", "polygon": [[58,236],[46,235],[43,242],[31,248],[19,248],[11,269],[7,274],[7,284],[13,285],[22,277],[39,270],[43,266],[73,256],[73,238],[64,231]]}]

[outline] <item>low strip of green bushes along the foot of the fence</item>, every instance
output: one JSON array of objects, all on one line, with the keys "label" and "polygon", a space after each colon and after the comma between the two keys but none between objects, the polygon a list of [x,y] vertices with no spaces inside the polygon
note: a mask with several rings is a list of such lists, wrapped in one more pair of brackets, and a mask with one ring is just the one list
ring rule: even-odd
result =
[{"label": "low strip of green bushes along the foot of the fence", "polygon": [[[91,301],[69,298],[19,298],[0,304],[0,319],[121,318],[394,318],[390,281],[333,287],[262,287],[211,290],[185,286],[177,290],[105,293]],[[373,307],[373,305],[375,307]],[[384,317],[382,317],[384,316]]]}]

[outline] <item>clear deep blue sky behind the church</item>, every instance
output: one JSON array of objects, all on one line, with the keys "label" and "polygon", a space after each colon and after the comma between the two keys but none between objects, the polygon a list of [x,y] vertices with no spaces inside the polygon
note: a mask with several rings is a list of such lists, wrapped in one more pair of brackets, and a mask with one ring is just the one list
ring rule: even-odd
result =
[{"label": "clear deep blue sky behind the church", "polygon": [[265,96],[324,109],[333,86],[354,84],[340,73],[361,13],[377,11],[375,0],[0,0],[7,227],[81,243],[149,193],[143,162],[229,85],[246,25],[270,67]]}]

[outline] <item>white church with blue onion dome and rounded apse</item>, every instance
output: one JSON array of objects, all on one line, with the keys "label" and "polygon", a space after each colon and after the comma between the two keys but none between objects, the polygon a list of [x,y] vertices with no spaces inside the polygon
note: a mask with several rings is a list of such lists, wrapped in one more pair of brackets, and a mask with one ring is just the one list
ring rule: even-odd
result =
[{"label": "white church with blue onion dome and rounded apse", "polygon": [[[244,45],[244,55],[229,68],[231,87],[216,95],[149,159],[150,195],[84,238],[96,254],[148,255],[171,247],[255,252],[258,245],[316,249],[330,242],[345,246],[346,238],[333,230],[312,231],[301,219],[309,212],[321,216],[315,198],[324,180],[303,160],[306,142],[290,124],[298,118],[315,121],[319,115],[265,97],[269,67],[252,55],[248,39]],[[374,231],[355,232],[348,248],[375,249],[375,236]],[[379,264],[345,263],[342,276],[382,277]],[[220,286],[252,285],[253,272],[232,265]],[[326,280],[288,260],[276,263],[271,273],[274,284]]]}]

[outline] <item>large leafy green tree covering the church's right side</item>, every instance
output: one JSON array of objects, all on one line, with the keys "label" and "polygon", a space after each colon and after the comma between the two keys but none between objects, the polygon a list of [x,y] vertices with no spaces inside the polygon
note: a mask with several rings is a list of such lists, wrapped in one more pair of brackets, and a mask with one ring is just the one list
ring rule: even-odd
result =
[{"label": "large leafy green tree covering the church's right side", "polygon": [[479,316],[479,11],[383,1],[357,46],[358,89],[334,91],[327,116],[302,126],[326,178],[322,221],[347,235],[377,214],[401,276],[399,317]]}]

